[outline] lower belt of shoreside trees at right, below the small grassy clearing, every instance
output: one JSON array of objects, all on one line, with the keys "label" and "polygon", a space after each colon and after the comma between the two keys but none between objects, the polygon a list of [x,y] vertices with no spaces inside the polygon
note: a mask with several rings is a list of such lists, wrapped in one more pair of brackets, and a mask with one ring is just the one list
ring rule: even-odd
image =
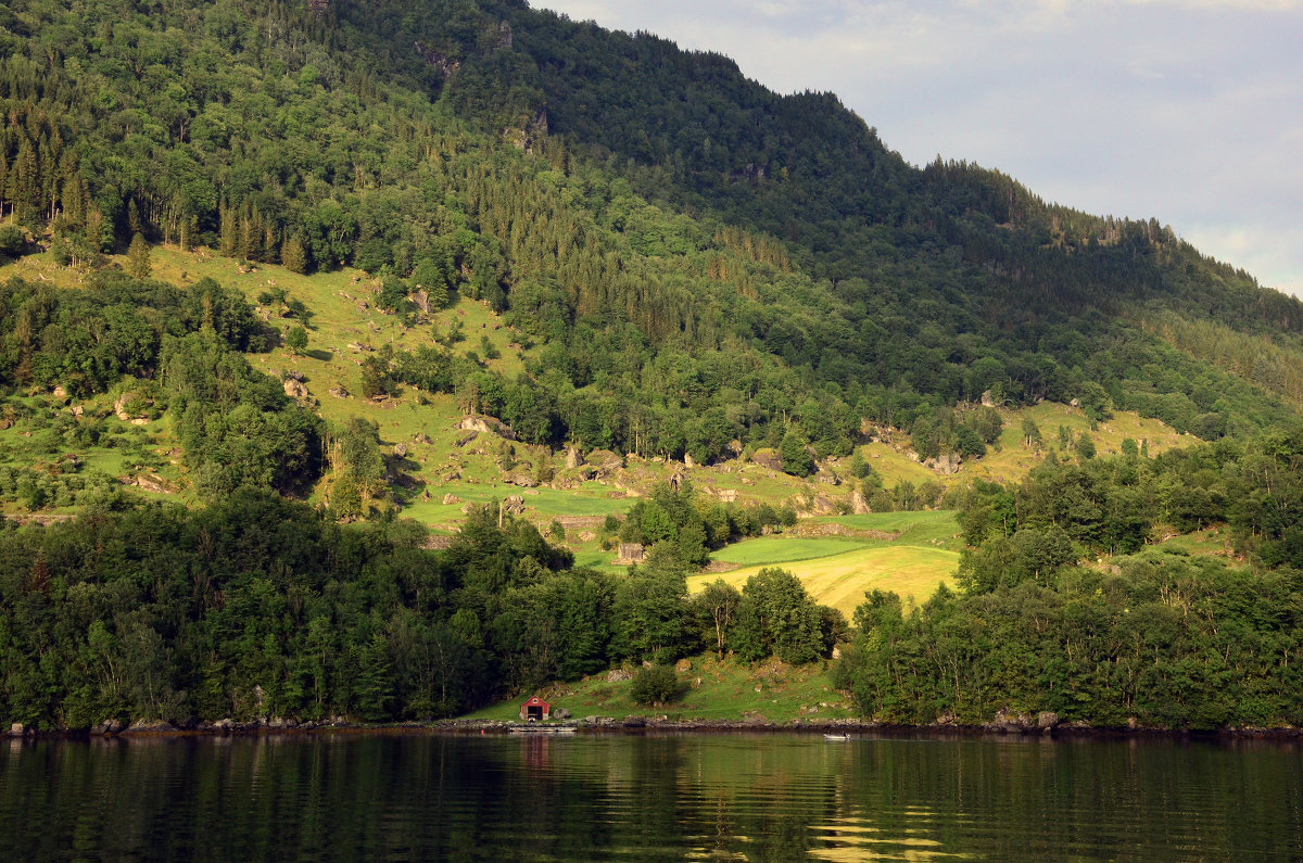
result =
[{"label": "lower belt of shoreside trees at right, below the small grassy clearing", "polygon": [[989,722],[1002,709],[1102,726],[1299,721],[1299,670],[1283,661],[1303,640],[1294,572],[1161,551],[1117,566],[1066,570],[1055,585],[939,591],[909,617],[870,594],[837,677],[886,722]]}]

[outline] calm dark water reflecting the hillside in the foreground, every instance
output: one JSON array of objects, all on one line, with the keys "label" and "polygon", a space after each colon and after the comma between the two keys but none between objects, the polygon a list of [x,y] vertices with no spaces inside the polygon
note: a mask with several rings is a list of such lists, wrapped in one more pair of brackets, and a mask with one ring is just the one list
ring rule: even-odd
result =
[{"label": "calm dark water reflecting the hillside in the foreground", "polygon": [[1303,748],[327,735],[0,742],[0,859],[1303,858]]}]

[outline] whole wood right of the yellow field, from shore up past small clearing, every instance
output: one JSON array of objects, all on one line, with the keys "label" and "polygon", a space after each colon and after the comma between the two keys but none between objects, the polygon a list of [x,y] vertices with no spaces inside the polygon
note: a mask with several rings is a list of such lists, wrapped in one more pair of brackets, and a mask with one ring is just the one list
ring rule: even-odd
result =
[{"label": "whole wood right of the yellow field, from shore up past small clearing", "polygon": [[[842,680],[861,710],[894,722],[1050,710],[1115,726],[1298,725],[1300,477],[1295,429],[979,484],[962,515],[962,592],[906,615],[874,591]],[[1226,551],[1251,566],[1147,548],[1158,525],[1209,524],[1226,524]],[[1078,563],[1101,554],[1108,566]]]}]

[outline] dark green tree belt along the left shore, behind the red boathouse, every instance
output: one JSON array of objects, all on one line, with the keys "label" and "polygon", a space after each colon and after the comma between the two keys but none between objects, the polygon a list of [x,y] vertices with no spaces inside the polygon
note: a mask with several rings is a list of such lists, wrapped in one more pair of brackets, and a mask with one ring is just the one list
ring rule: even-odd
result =
[{"label": "dark green tree belt along the left shore, behind the red boathouse", "polygon": [[0,716],[430,720],[554,679],[704,649],[827,656],[846,622],[766,570],[688,597],[674,544],[624,578],[524,521],[470,514],[444,551],[410,521],[340,525],[237,491],[202,511],[96,507],[0,534]]}]

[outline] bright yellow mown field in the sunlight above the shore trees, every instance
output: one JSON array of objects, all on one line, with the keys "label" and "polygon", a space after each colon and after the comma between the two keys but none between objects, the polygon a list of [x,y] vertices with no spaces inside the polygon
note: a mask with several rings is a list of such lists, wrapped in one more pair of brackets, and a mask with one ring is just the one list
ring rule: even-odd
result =
[{"label": "bright yellow mown field in the sunlight above the shore trees", "polygon": [[[959,554],[916,545],[857,548],[842,554],[779,564],[804,584],[821,605],[830,605],[850,621],[866,591],[894,591],[903,600],[923,602],[942,581],[954,583]],[[688,592],[697,593],[715,579],[739,591],[764,567],[749,566],[730,572],[710,572],[688,579]]]}]

